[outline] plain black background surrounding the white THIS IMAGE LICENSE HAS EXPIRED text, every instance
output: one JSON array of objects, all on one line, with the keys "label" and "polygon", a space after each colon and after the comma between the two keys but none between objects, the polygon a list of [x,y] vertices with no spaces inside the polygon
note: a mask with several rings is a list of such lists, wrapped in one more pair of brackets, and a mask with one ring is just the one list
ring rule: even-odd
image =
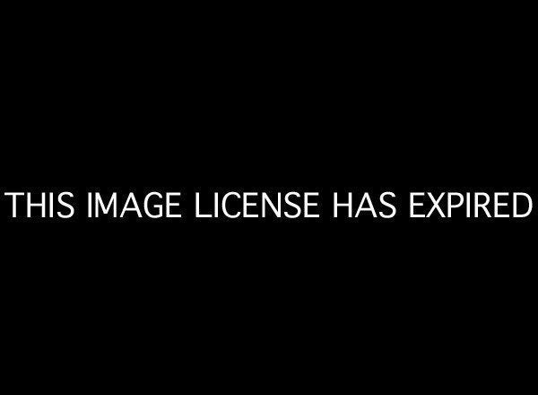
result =
[{"label": "plain black background surrounding the white THIS IMAGE LICENSE HAS EXPIRED text", "polygon": [[[319,190],[324,218],[4,215],[11,371],[513,385],[533,349],[535,214],[412,221],[406,196],[535,198],[531,26],[483,10],[221,11],[23,13],[4,40],[2,191]],[[384,190],[395,220],[330,219],[333,191]]]}]

